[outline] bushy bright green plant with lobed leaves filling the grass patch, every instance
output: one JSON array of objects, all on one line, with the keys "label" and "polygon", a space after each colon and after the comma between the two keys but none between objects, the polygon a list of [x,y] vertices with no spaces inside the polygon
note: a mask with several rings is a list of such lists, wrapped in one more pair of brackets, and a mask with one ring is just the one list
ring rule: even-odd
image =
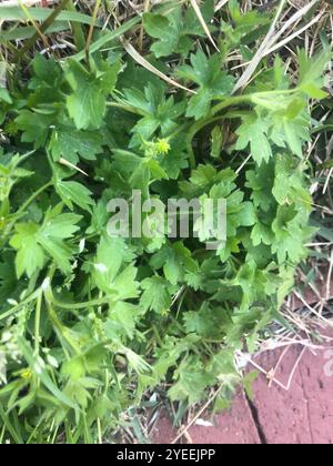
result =
[{"label": "bushy bright green plant with lobed leaves filling the grass patch", "polygon": [[[226,55],[246,54],[270,13],[231,1],[210,27],[218,52],[191,6],[171,3],[143,16],[147,58],[182,89],[115,41],[135,19],[97,33],[85,61],[37,53],[0,91],[0,439],[98,442],[152,392],[182,411],[216,385],[225,406],[235,352],[256,350],[307,256],[309,100],[326,95],[331,51],[299,51],[297,78],[262,60],[233,93]],[[225,199],[225,246],[110,237],[108,202],[133,190]]]}]

